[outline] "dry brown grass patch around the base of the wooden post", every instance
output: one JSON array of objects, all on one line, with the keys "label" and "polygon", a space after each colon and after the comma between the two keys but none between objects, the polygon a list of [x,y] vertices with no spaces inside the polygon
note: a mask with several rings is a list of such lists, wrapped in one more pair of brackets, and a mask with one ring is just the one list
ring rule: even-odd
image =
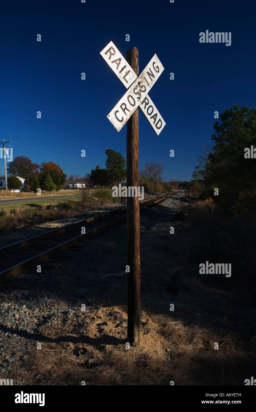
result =
[{"label": "dry brown grass patch around the base of the wooden post", "polygon": [[[102,322],[105,309],[94,311],[91,317],[99,315]],[[118,319],[127,319],[126,312],[116,313]],[[171,316],[145,311],[142,321],[147,322],[147,327],[150,325],[150,334],[145,333],[142,325],[141,345],[129,350],[125,349],[126,322],[122,328],[123,343],[115,345],[97,345],[95,338],[95,344],[75,344],[76,337],[79,341],[87,333],[93,336],[92,330],[89,332],[83,325],[75,336],[71,335],[67,319],[64,327],[63,322],[44,325],[40,329],[44,332],[42,349],[36,350],[34,346],[21,384],[79,385],[84,381],[86,385],[170,385],[173,381],[175,385],[242,385],[253,372],[255,341],[228,340],[211,330],[174,321]],[[49,337],[55,343],[47,342]],[[215,350],[214,342],[224,344]],[[90,368],[90,358],[98,359],[99,365]]]}]

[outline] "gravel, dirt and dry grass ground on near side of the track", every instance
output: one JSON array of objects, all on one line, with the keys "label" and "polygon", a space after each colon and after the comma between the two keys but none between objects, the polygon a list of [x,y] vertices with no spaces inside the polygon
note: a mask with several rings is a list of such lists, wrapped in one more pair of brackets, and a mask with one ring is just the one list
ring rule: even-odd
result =
[{"label": "gravel, dirt and dry grass ground on near side of the track", "polygon": [[[2,359],[14,359],[5,360],[0,377],[18,385],[244,385],[255,362],[248,316],[254,309],[246,303],[241,308],[232,293],[198,275],[194,256],[200,239],[189,216],[179,217],[187,201],[179,193],[171,197],[173,204],[141,215],[139,346],[127,340],[122,225],[58,255],[42,273],[31,269],[4,285],[3,305],[11,303],[19,315],[19,293],[34,323],[21,329],[10,316],[0,322],[9,338]],[[178,268],[182,281],[175,296],[165,287]]]}]

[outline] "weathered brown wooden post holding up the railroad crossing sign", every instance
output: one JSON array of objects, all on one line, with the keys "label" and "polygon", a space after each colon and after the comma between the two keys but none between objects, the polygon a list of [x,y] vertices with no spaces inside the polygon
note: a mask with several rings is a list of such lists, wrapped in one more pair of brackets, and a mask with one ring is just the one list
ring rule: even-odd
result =
[{"label": "weathered brown wooden post holding up the railroad crossing sign", "polygon": [[[138,49],[127,52],[127,62],[138,76]],[[138,188],[138,108],[127,121],[127,187]],[[141,260],[138,196],[127,197],[128,341],[140,343]]]}]

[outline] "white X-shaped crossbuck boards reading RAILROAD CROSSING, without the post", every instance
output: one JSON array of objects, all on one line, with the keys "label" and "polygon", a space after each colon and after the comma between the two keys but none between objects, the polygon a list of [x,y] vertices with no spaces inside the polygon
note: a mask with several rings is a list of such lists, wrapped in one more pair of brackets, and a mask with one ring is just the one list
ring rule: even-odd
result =
[{"label": "white X-shaped crossbuck boards reading RAILROAD CROSSING, without the post", "polygon": [[115,129],[120,131],[139,106],[158,136],[164,129],[165,122],[147,94],[164,71],[164,67],[157,55],[155,54],[152,57],[138,77],[113,42],[109,42],[100,52],[100,55],[128,89],[107,116],[113,126],[115,126]]}]

